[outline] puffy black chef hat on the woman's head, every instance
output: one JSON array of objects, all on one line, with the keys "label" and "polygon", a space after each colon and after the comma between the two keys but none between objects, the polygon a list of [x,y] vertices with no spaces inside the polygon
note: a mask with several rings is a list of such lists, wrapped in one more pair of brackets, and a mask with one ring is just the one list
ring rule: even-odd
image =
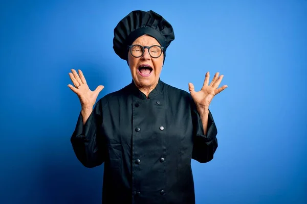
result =
[{"label": "puffy black chef hat on the woman's head", "polygon": [[128,58],[128,48],[138,37],[147,34],[160,43],[164,53],[175,39],[172,26],[161,15],[153,11],[132,11],[114,29],[113,49],[123,60]]}]

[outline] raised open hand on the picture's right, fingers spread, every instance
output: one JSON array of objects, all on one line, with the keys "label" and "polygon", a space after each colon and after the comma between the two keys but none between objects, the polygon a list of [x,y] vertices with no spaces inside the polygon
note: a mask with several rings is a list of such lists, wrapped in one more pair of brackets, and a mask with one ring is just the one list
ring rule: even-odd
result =
[{"label": "raised open hand on the picture's right, fingers spread", "polygon": [[215,73],[212,82],[209,84],[210,74],[209,72],[207,72],[204,85],[202,89],[198,92],[194,90],[194,85],[192,83],[189,83],[189,91],[198,109],[208,109],[212,98],[228,87],[227,85],[224,85],[221,88],[218,88],[224,77],[224,75],[220,75],[220,77],[218,77],[218,74],[220,73]]}]

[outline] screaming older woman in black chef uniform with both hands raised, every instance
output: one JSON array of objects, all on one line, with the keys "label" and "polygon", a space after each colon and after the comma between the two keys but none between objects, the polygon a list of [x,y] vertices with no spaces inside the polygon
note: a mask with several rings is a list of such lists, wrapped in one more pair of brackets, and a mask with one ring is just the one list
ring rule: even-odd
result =
[{"label": "screaming older woman in black chef uniform with both hands raised", "polygon": [[[81,103],[71,137],[78,160],[88,168],[104,163],[102,203],[195,203],[191,159],[209,162],[217,129],[209,111],[223,75],[209,72],[198,92],[160,80],[171,25],[153,11],[133,11],[114,29],[115,53],[127,61],[132,81],[96,99],[81,70],[68,85]],[[96,103],[96,105],[95,105]],[[81,190],[82,191],[82,190]]]}]

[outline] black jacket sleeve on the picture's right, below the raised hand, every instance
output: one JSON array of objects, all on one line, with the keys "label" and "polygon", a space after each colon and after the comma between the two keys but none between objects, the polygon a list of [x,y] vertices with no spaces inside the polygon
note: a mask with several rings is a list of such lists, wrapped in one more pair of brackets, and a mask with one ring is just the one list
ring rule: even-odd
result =
[{"label": "black jacket sleeve on the picture's right, below the raised hand", "polygon": [[206,163],[213,159],[217,149],[217,129],[210,110],[206,135],[204,135],[203,123],[195,107],[193,107],[192,115],[194,128],[192,159]]}]

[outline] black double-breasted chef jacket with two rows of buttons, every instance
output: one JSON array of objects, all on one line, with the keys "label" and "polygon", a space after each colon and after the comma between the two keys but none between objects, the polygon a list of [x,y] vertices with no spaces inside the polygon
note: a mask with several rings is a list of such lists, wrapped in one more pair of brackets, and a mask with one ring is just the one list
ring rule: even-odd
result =
[{"label": "black double-breasted chef jacket with two rows of buttons", "polygon": [[[148,98],[131,84],[100,98],[71,137],[88,168],[104,163],[104,204],[193,204],[191,159],[209,162],[217,129],[209,111],[207,134],[191,95],[159,79]],[[206,174],[204,173],[204,176]]]}]

